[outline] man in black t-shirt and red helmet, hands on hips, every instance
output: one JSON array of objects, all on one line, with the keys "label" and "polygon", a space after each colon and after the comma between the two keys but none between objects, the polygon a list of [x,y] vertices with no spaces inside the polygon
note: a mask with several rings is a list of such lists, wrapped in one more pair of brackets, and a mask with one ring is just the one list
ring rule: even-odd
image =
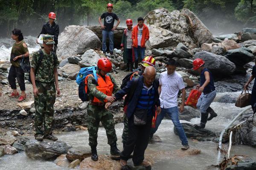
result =
[{"label": "man in black t-shirt and red helmet, hands on hips", "polygon": [[[108,12],[103,13],[99,17],[99,24],[102,27],[102,51],[105,54],[107,51],[107,46],[106,46],[106,40],[107,37],[109,39],[109,51],[110,54],[113,55],[113,48],[114,48],[114,33],[113,31],[116,29],[116,27],[119,25],[120,20],[117,17],[115,13],[112,12],[113,10],[113,4],[108,3],[107,6]],[[104,18],[104,25],[102,24],[102,19]],[[117,20],[116,26],[114,26],[114,22]]]}]

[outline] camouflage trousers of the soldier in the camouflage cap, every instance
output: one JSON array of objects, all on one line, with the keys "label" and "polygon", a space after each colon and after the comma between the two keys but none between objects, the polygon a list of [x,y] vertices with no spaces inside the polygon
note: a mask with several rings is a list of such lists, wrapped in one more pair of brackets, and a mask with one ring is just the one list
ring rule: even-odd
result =
[{"label": "camouflage trousers of the soldier in the camouflage cap", "polygon": [[[55,83],[36,82],[38,97],[35,97],[35,136],[52,134],[52,120],[56,98]],[[44,124],[44,131],[42,125]]]}]

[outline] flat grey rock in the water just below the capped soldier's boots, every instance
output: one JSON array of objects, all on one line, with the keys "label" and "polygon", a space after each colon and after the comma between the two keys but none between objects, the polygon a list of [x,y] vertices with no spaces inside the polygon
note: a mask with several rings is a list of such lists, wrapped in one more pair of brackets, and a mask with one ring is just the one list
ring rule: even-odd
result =
[{"label": "flat grey rock in the water just below the capped soldier's boots", "polygon": [[70,145],[61,141],[47,143],[30,140],[25,144],[25,153],[31,159],[50,160],[67,153],[70,148]]}]

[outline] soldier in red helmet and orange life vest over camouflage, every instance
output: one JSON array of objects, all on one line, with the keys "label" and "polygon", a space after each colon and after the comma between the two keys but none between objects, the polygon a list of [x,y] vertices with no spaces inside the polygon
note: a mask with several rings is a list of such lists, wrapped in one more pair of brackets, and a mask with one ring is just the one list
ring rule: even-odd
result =
[{"label": "soldier in red helmet and orange life vest over camouflage", "polygon": [[120,155],[120,151],[116,147],[116,131],[113,121],[113,115],[110,111],[105,109],[105,103],[114,101],[111,96],[119,90],[115,80],[108,74],[112,69],[111,62],[106,58],[101,58],[98,61],[97,82],[93,75],[88,75],[85,79],[88,84],[89,90],[89,105],[87,106],[88,113],[88,132],[89,132],[89,145],[91,147],[91,159],[98,160],[97,155],[97,137],[99,122],[102,123],[106,130],[108,137],[108,144],[111,146],[111,155]]}]

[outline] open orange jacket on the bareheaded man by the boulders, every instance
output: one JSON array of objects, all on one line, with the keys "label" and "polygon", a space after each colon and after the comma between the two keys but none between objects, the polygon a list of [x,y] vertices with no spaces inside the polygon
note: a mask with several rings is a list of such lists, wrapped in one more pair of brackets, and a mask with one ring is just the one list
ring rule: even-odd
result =
[{"label": "open orange jacket on the bareheaded man by the boulders", "polygon": [[[134,27],[131,34],[131,39],[133,41],[132,46],[138,48],[138,25]],[[143,24],[143,31],[140,46],[145,47],[146,41],[149,39],[149,30],[148,27]]]}]

